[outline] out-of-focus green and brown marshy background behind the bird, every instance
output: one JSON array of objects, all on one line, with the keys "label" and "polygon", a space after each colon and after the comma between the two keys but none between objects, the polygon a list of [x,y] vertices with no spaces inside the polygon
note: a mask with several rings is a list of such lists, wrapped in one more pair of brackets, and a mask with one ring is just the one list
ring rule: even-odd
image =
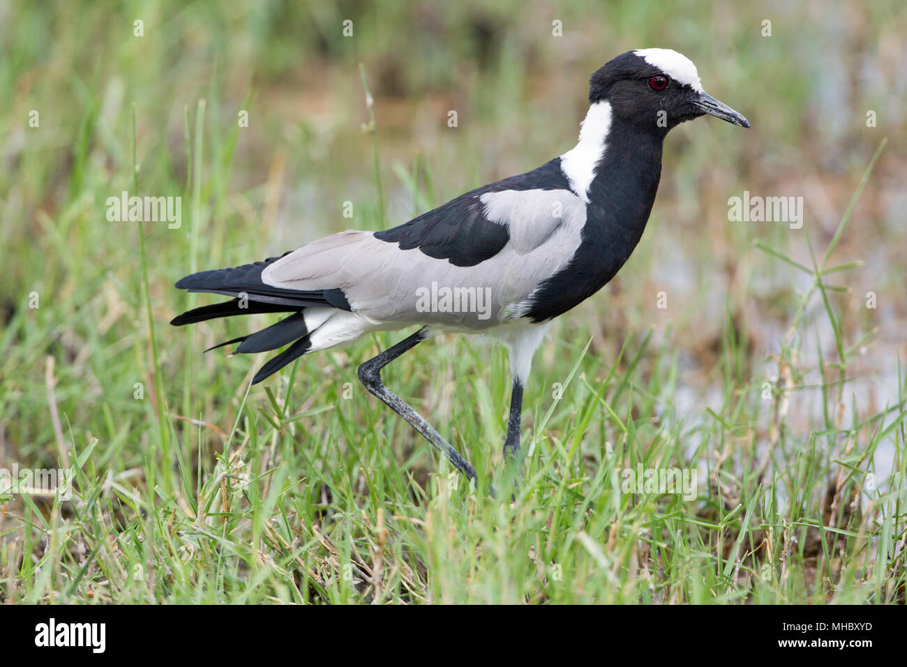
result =
[{"label": "out-of-focus green and brown marshy background behind the bird", "polygon": [[[778,387],[779,376],[796,388],[785,428],[803,438],[897,404],[907,354],[899,0],[0,0],[0,466],[52,465],[61,442],[83,447],[100,436],[102,466],[141,469],[161,398],[173,414],[204,415],[229,432],[255,359],[200,350],[247,323],[172,329],[171,317],[208,302],[177,292],[175,280],[335,231],[390,227],[528,171],[574,145],[590,74],[651,46],[687,55],[707,92],[752,129],[706,118],[671,132],[648,230],[610,286],[552,329],[556,344],[537,355],[532,397],[549,399],[587,340],[602,365],[584,369],[591,378],[628,336],[638,343],[651,328],[668,366],[647,353],[636,372],[668,368],[657,412],[686,424],[727,410],[735,392]],[[143,226],[155,348],[137,226],[105,217],[108,197],[134,193],[133,113],[138,194],[182,198],[180,229]],[[862,263],[828,277],[827,300],[811,299],[797,315],[814,276],[763,248],[812,267],[811,244],[821,261],[883,137],[828,266]],[[728,199],[744,191],[803,197],[803,229],[728,221]],[[867,308],[869,292],[876,308]],[[450,360],[460,343],[444,340]],[[313,385],[322,375],[355,379],[369,349],[306,359],[300,372]],[[498,352],[478,354],[504,368]],[[846,389],[825,391],[838,380],[828,370],[835,364]],[[440,377],[462,382],[444,368]],[[489,381],[474,370],[471,383]],[[135,383],[150,400],[135,400]],[[492,387],[497,412],[482,407],[480,419],[504,414],[506,383]],[[445,412],[451,393],[439,396],[426,410]],[[840,405],[829,407],[830,396]],[[313,390],[304,407],[320,400]],[[318,420],[306,423],[319,437]],[[189,438],[187,456],[197,445]],[[891,471],[894,448],[879,456]]]}]

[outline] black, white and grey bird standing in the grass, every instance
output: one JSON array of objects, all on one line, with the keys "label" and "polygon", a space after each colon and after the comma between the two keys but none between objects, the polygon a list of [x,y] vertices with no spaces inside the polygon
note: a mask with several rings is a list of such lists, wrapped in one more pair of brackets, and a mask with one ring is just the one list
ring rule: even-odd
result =
[{"label": "black, white and grey bird standing in the grass", "polygon": [[473,466],[385,387],[381,369],[440,333],[487,335],[510,352],[503,448],[505,460],[515,460],[532,354],[551,319],[601,289],[636,247],[658,191],[665,135],[705,114],[749,127],[703,91],[696,65],[669,49],[617,56],[592,74],[589,102],[579,142],[561,157],[390,230],[341,231],[279,258],[193,273],[176,287],[234,299],[189,310],[171,324],[290,313],[222,343],[239,343],[237,352],[288,346],[253,383],[303,354],[373,331],[420,327],[367,360],[358,376],[470,480],[476,479]]}]

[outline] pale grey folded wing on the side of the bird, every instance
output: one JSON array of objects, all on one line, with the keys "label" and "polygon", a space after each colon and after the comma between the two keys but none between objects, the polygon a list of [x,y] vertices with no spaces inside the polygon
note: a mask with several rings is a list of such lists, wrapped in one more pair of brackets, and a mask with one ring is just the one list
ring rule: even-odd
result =
[{"label": "pale grey folded wing on the side of the bird", "polygon": [[[464,197],[451,204],[462,207],[470,220],[468,246],[462,227],[452,224],[450,231],[439,231],[430,211],[428,218],[416,219],[424,220],[428,230],[422,245],[412,225],[392,230],[406,228],[405,238],[342,231],[289,253],[263,270],[261,278],[282,289],[341,289],[352,311],[376,326],[481,330],[520,317],[532,291],[561,270],[579,247],[585,203],[566,190],[486,191]],[[477,245],[477,235],[488,241]],[[479,260],[476,254],[487,257]],[[457,258],[459,263],[453,263]]]}]

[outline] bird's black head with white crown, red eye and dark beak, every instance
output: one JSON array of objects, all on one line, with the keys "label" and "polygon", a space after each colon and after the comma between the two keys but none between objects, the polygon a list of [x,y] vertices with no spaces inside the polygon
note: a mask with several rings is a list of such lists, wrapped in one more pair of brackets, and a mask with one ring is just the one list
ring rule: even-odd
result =
[{"label": "bird's black head with white crown, red eye and dark beak", "polygon": [[661,135],[706,114],[749,127],[746,118],[702,90],[695,64],[670,49],[617,56],[592,74],[589,101],[607,102],[624,122]]}]

